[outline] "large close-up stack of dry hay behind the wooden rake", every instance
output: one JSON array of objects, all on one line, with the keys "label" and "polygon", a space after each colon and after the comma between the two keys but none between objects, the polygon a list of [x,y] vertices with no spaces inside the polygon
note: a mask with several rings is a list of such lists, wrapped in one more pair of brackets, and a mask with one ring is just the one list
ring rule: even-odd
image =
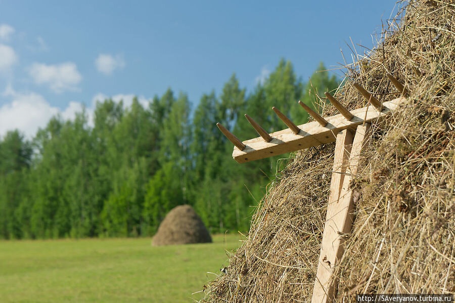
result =
[{"label": "large close-up stack of dry hay behind the wooden rake", "polygon": [[[355,302],[356,293],[455,292],[455,4],[419,1],[402,10],[374,51],[354,54],[358,61],[346,66],[348,81],[337,92],[350,110],[366,106],[354,80],[391,100],[398,94],[390,72],[411,94],[385,123],[372,125],[362,152],[336,302]],[[333,113],[325,105],[324,114]],[[295,154],[204,301],[311,301],[333,151],[330,144]]]}]

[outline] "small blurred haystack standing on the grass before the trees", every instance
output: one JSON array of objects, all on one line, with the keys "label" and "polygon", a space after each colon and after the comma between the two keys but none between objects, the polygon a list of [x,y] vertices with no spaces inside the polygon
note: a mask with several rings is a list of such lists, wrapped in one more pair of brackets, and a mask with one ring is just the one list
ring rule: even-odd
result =
[{"label": "small blurred haystack standing on the grass before the trees", "polygon": [[212,242],[199,215],[190,205],[174,207],[161,222],[152,245],[172,245]]}]

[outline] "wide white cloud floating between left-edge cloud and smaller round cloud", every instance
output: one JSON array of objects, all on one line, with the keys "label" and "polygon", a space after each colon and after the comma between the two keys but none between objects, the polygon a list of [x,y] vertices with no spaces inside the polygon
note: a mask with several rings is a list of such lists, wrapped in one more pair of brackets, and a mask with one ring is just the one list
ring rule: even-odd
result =
[{"label": "wide white cloud floating between left-edge cloud and smaller round cloud", "polygon": [[82,76],[73,62],[55,65],[33,63],[29,74],[37,84],[47,84],[56,93],[77,90]]}]

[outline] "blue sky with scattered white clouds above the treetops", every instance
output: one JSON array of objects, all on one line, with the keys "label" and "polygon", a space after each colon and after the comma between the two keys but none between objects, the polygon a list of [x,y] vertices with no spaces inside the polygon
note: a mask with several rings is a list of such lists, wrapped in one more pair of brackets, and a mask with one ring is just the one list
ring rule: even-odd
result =
[{"label": "blue sky with scattered white clouds above the treetops", "polygon": [[[371,48],[395,1],[0,0],[0,136],[28,137],[52,115],[90,114],[104,97],[146,102],[168,87],[221,91],[236,72],[251,90],[280,58],[307,79],[340,48]],[[396,11],[396,10],[395,10]],[[357,52],[363,49],[357,47]],[[338,72],[341,75],[340,72]]]}]

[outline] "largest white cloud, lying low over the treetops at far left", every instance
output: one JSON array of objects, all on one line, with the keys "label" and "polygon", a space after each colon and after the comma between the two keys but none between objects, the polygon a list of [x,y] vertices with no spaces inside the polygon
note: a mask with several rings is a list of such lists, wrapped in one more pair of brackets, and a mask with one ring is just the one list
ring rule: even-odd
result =
[{"label": "largest white cloud, lying low over the treetops at far left", "polygon": [[[74,119],[76,112],[81,112],[83,108],[81,103],[72,101],[62,111],[51,106],[41,95],[18,93],[11,85],[7,86],[3,96],[10,97],[11,101],[0,107],[0,136],[17,128],[31,139],[38,128],[44,128],[53,116],[60,114],[64,120]],[[88,109],[86,113],[88,125],[93,126],[93,111]]]}]

